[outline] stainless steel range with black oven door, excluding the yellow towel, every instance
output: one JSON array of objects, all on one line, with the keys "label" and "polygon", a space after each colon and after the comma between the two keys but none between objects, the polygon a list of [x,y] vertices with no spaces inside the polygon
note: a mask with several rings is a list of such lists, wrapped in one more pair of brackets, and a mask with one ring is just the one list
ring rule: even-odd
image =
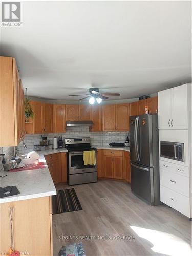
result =
[{"label": "stainless steel range with black oven door, excluding the yellow towel", "polygon": [[96,154],[96,148],[91,147],[91,139],[71,138],[65,139],[67,148],[67,179],[69,185],[97,182],[97,164],[84,165],[83,152],[93,150]]}]

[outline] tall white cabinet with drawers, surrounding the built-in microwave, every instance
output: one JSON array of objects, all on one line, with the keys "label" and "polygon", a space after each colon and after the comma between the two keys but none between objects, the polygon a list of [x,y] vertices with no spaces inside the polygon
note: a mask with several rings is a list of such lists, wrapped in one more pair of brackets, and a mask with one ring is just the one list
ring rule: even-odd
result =
[{"label": "tall white cabinet with drawers, surrounding the built-in microwave", "polygon": [[160,199],[191,220],[191,84],[158,92],[158,112],[159,142],[184,143],[184,162],[160,156]]}]

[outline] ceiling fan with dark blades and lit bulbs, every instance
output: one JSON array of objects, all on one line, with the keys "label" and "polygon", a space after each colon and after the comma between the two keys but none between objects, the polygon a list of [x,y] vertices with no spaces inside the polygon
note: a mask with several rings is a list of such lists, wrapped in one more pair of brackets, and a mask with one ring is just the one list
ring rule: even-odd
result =
[{"label": "ceiling fan with dark blades and lit bulbs", "polygon": [[86,96],[79,100],[87,99],[90,97],[89,103],[93,105],[95,103],[95,99],[98,104],[100,104],[102,100],[109,99],[109,97],[106,97],[105,95],[119,96],[120,94],[119,93],[99,93],[99,88],[94,87],[89,89],[89,94],[76,94],[76,95],[69,95],[69,96]]}]

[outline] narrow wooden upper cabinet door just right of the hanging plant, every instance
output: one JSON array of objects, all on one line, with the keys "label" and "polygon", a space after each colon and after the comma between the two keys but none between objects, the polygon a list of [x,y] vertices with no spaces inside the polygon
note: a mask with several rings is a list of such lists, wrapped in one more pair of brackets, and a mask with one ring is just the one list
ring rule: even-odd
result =
[{"label": "narrow wooden upper cabinet door just right of the hanging plant", "polygon": [[34,102],[34,133],[44,133],[44,103]]}]

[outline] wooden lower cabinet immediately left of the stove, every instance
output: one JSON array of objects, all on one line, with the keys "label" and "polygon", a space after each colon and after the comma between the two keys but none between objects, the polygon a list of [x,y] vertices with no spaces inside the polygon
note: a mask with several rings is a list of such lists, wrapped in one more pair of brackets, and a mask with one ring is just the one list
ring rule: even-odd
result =
[{"label": "wooden lower cabinet immediately left of the stove", "polygon": [[45,156],[54,184],[67,181],[66,153],[54,153]]}]

